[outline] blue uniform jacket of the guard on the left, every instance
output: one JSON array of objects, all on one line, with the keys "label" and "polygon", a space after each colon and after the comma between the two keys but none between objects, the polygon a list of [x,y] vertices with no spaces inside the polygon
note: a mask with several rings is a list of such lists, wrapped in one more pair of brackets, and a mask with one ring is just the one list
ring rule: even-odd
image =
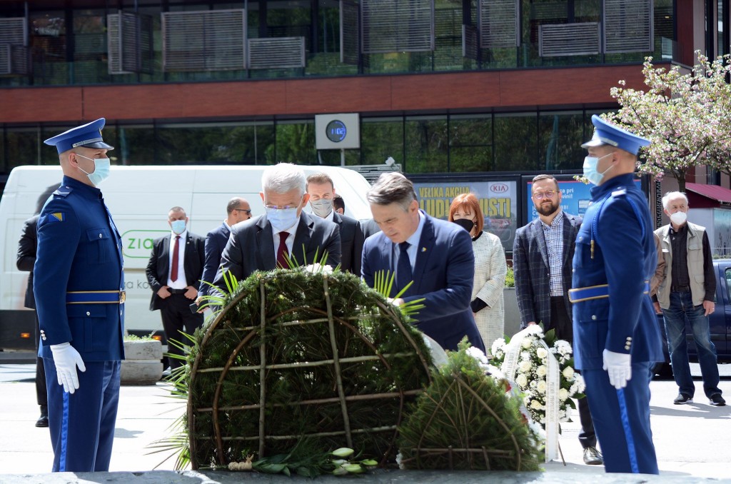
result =
[{"label": "blue uniform jacket of the guard on the left", "polygon": [[124,304],[67,303],[71,291],[123,290],[122,263],[102,192],[64,176],[38,220],[33,292],[40,357],[53,358],[50,345],[69,341],[84,361],[124,359]]}]

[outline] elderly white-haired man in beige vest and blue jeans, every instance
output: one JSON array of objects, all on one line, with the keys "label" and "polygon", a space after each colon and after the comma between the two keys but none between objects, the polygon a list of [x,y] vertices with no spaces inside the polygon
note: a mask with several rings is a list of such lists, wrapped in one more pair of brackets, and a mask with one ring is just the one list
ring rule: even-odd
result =
[{"label": "elderly white-haired man in beige vest and blue jeans", "polygon": [[719,367],[716,347],[711,342],[708,314],[715,309],[716,278],[713,276],[711,243],[705,227],[687,221],[688,198],[681,192],[662,197],[664,212],[670,224],[655,233],[660,238],[665,257],[665,275],[656,294],[655,309],[662,309],[667,334],[667,350],[678,385],[676,405],[693,402],[695,385],[688,364],[686,317],[698,349],[698,362],[703,376],[703,390],[711,405],[723,406],[726,401],[719,390]]}]

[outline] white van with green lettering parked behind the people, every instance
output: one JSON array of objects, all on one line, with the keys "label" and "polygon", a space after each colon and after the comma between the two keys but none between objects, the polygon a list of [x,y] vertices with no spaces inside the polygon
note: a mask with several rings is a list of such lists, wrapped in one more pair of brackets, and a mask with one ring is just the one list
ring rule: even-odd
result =
[{"label": "white van with green lettering parked behind the people", "polygon": [[[366,201],[366,178],[341,167],[303,166],[306,175],[325,172],[345,200],[346,215],[371,218]],[[113,166],[100,186],[124,244],[126,283],[125,326],[129,333],[162,334],[159,311],[149,311],[152,292],[145,268],[152,241],[170,232],[167,211],[185,208],[188,229],[205,237],[226,218],[231,197],[249,200],[252,215],[264,211],[261,179],[264,166]],[[27,272],[18,271],[15,258],[23,222],[37,213],[39,197],[61,181],[60,167],[17,167],[10,173],[0,200],[0,349],[33,349],[34,319],[23,308]],[[53,188],[50,188],[53,187]],[[42,201],[41,201],[42,205]],[[309,210],[309,208],[307,208]]]}]

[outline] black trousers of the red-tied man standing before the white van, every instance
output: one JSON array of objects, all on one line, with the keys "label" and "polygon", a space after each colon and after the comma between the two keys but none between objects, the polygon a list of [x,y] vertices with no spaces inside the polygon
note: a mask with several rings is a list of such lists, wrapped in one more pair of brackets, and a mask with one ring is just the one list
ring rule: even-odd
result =
[{"label": "black trousers of the red-tied man standing before the white van", "polygon": [[[160,314],[162,316],[162,328],[165,330],[167,339],[167,352],[171,355],[183,355],[183,351],[175,346],[175,342],[190,346],[191,341],[183,336],[183,332],[193,336],[195,330],[203,325],[203,315],[193,313],[190,305],[194,299],[188,299],[184,294],[171,294],[162,300]],[[174,341],[170,341],[170,340]],[[170,369],[174,370],[183,366],[184,360],[168,358]]]}]

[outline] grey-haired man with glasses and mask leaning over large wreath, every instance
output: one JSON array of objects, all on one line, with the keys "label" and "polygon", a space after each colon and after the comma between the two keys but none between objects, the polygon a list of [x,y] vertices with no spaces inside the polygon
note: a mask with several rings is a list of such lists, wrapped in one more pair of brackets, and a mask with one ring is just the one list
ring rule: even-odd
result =
[{"label": "grey-haired man with glasses and mask leaning over large wreath", "polygon": [[305,186],[305,173],[291,163],[264,170],[260,196],[265,214],[231,227],[213,282],[220,291],[226,290],[224,273],[241,281],[254,271],[288,268],[287,254],[299,265],[319,262],[325,252],[327,265],[341,262],[338,226],[302,211],[309,199]]}]

